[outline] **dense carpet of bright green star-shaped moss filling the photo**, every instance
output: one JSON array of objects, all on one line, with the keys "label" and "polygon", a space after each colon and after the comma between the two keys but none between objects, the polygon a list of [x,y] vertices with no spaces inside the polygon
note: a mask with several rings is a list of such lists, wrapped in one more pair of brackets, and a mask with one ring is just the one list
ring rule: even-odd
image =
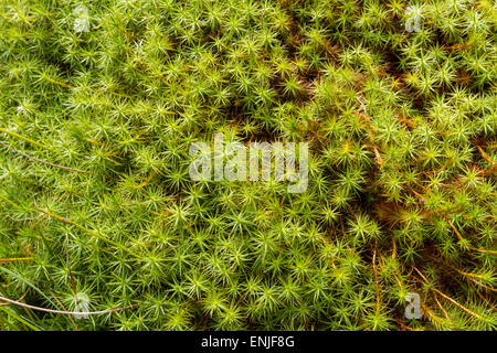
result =
[{"label": "dense carpet of bright green star-shaped moss filling the photo", "polygon": [[[118,310],[0,300],[0,329],[496,329],[496,18],[2,1],[0,297]],[[191,180],[215,133],[308,142],[307,190]]]}]

